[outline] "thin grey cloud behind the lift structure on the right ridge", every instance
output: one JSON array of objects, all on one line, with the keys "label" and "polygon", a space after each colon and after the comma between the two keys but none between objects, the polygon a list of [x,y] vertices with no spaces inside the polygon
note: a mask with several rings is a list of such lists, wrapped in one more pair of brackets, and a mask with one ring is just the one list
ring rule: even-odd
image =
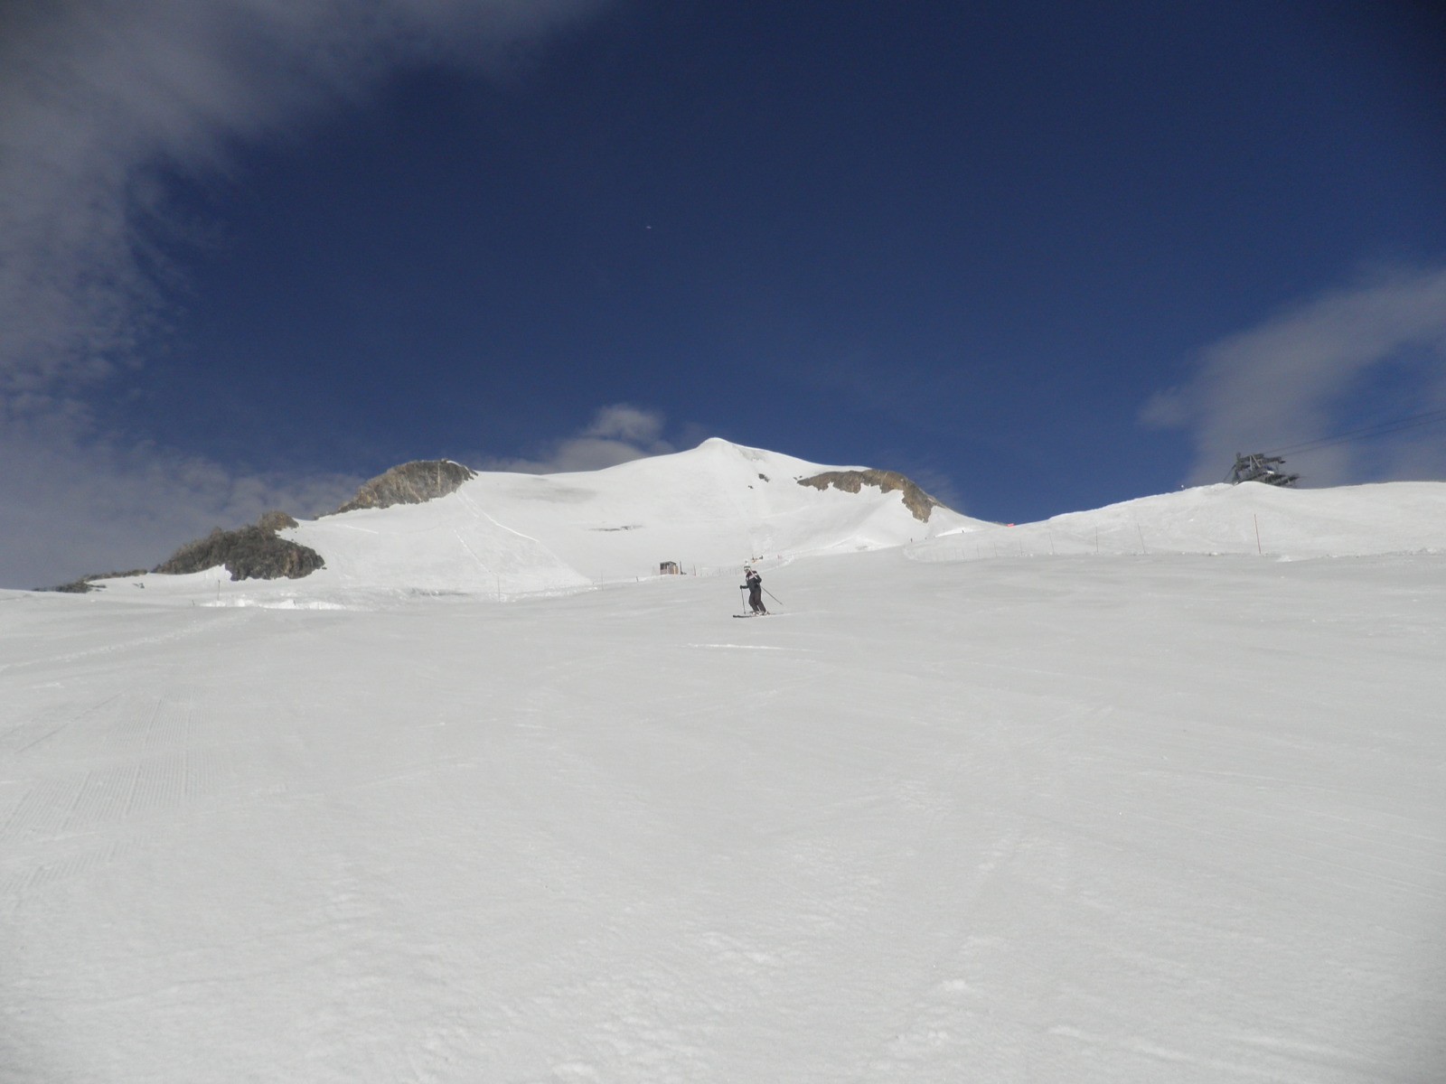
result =
[{"label": "thin grey cloud behind the lift structure on the right ridge", "polygon": [[[1372,416],[1361,406],[1374,405]],[[1446,408],[1446,267],[1394,269],[1297,304],[1202,351],[1194,377],[1141,421],[1187,429],[1189,481],[1220,481],[1235,452],[1277,451]],[[1384,428],[1384,426],[1377,426]],[[1313,484],[1446,474],[1446,425],[1303,451]]]}]

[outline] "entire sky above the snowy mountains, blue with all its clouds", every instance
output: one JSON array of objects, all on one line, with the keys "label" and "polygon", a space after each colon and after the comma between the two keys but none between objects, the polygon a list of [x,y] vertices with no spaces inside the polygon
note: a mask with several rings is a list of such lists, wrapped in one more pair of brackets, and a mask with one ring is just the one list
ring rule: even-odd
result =
[{"label": "entire sky above the snowy mountains, blue with all its clouds", "polygon": [[722,435],[1024,522],[1446,409],[1429,4],[121,7],[0,42],[4,585],[412,458]]}]

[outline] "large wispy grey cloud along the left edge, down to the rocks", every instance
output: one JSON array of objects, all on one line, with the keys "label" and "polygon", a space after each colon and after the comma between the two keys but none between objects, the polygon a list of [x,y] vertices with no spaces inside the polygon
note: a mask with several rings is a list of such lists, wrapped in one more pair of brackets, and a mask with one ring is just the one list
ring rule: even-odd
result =
[{"label": "large wispy grey cloud along the left edge, down to the rocks", "polygon": [[[408,65],[506,77],[606,0],[0,0],[0,584],[156,559],[176,530],[356,480],[236,473],[98,431],[187,241],[162,178],[295,130]],[[91,539],[91,541],[88,541]],[[145,558],[142,561],[142,558]]]}]

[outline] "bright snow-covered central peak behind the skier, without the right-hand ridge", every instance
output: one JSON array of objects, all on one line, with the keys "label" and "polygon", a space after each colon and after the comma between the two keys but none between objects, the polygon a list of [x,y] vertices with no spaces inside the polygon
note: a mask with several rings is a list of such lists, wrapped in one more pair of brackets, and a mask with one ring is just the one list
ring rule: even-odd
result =
[{"label": "bright snow-covered central peak behind the skier, without the right-hand ridge", "polygon": [[[869,483],[853,493],[800,484],[837,471],[862,468],[714,438],[599,471],[483,473],[425,503],[354,509],[282,530],[325,559],[288,590],[568,591],[656,575],[665,561],[690,572],[736,569],[988,526],[930,502],[901,476],[892,477],[907,489],[888,493]],[[915,507],[911,493],[921,499]]]}]

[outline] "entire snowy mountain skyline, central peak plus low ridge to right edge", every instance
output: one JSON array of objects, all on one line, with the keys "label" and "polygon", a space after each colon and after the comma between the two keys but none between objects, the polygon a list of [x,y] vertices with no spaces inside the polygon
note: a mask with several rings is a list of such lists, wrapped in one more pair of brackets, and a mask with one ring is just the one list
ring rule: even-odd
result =
[{"label": "entire snowy mountain skyline, central peak plus low ridge to right edge", "polygon": [[[353,502],[278,532],[324,559],[304,580],[233,584],[224,568],[211,568],[103,582],[145,585],[150,598],[210,593],[218,601],[224,593],[239,604],[328,606],[409,593],[516,598],[635,582],[656,577],[664,562],[707,575],[745,562],[766,569],[803,556],[898,546],[921,562],[1446,549],[1446,484],[1433,481],[1329,490],[1203,486],[1005,526],[953,512],[898,474],[829,467],[716,438],[674,455],[574,474],[409,467],[454,470],[435,480],[442,496],[408,491],[396,499],[419,503],[385,507]],[[405,470],[369,486],[399,473]],[[414,481],[393,478],[403,490]],[[217,588],[218,581],[226,587]]]}]

